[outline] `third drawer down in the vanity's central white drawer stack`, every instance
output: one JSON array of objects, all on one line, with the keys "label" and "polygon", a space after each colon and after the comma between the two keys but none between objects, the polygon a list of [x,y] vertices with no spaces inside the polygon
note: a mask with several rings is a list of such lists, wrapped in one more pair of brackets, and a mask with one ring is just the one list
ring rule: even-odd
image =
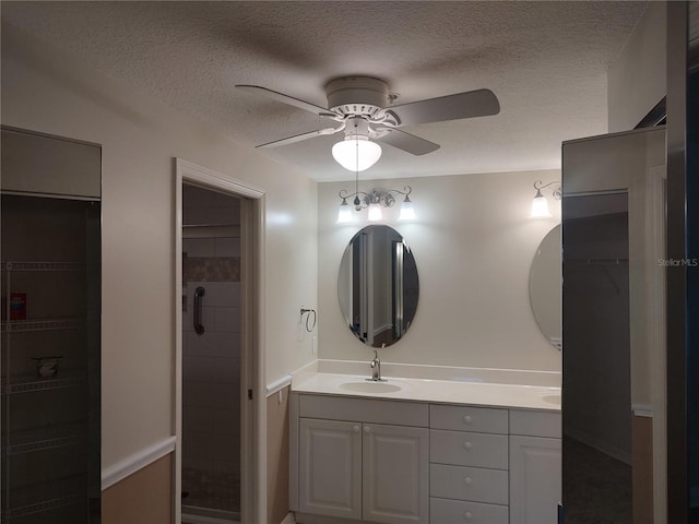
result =
[{"label": "third drawer down in the vanity's central white drawer stack", "polygon": [[507,472],[446,464],[429,465],[430,497],[507,505],[508,493]]}]

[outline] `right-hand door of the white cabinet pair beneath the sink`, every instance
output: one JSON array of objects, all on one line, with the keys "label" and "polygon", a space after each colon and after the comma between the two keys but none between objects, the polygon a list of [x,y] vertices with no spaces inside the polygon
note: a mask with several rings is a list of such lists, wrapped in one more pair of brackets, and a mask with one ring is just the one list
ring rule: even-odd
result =
[{"label": "right-hand door of the white cabinet pair beneath the sink", "polygon": [[426,523],[429,514],[429,430],[365,424],[365,521]]}]

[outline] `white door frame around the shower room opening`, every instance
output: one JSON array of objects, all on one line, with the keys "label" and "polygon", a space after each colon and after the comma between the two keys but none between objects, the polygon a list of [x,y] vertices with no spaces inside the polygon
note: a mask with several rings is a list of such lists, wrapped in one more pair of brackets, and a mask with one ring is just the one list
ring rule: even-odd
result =
[{"label": "white door frame around the shower room opening", "polygon": [[173,515],[182,516],[182,184],[228,193],[241,199],[242,352],[240,362],[241,524],[266,519],[265,394],[264,394],[264,209],[265,193],[181,158],[175,158],[175,367],[173,430],[176,438],[173,467]]}]

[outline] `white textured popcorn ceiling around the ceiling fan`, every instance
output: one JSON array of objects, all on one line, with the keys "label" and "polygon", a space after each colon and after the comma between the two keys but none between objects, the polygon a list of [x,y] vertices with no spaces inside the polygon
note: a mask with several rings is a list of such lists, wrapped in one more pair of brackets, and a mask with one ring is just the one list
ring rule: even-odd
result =
[{"label": "white textured popcorn ceiling around the ceiling fan", "polygon": [[[236,90],[256,84],[325,107],[324,85],[386,81],[408,103],[489,88],[501,111],[404,128],[441,148],[383,147],[390,178],[558,168],[564,140],[606,132],[606,71],[645,2],[8,2],[3,23],[256,145],[327,120]],[[316,180],[353,177],[341,135],[260,150]]]}]

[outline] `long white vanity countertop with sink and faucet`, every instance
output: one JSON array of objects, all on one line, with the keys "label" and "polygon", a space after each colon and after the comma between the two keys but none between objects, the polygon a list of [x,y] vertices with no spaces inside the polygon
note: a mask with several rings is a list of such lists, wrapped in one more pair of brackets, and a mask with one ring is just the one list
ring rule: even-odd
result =
[{"label": "long white vanity countertop with sink and faucet", "polygon": [[401,377],[384,377],[382,382],[366,379],[318,372],[294,382],[292,392],[560,412],[560,388]]}]

